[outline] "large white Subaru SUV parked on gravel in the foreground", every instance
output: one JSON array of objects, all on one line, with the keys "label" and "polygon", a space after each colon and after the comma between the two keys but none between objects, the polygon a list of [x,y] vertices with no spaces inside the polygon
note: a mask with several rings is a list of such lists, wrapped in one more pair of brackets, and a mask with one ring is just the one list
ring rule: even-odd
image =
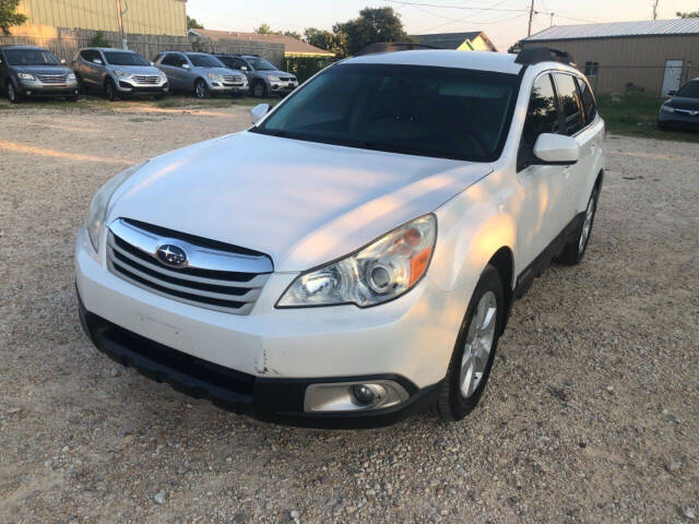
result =
[{"label": "large white Subaru SUV parked on gravel in the foreground", "polygon": [[585,252],[588,81],[548,49],[366,55],[252,119],[95,195],[75,253],[94,344],[263,420],[463,418],[513,299]]}]

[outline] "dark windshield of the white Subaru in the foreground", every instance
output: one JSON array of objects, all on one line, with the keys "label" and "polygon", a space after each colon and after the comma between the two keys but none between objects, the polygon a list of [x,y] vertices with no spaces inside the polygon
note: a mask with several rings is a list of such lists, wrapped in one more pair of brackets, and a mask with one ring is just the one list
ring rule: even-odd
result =
[{"label": "dark windshield of the white Subaru in the foreground", "polygon": [[251,131],[351,147],[491,162],[502,150],[514,74],[344,64],[306,84]]}]

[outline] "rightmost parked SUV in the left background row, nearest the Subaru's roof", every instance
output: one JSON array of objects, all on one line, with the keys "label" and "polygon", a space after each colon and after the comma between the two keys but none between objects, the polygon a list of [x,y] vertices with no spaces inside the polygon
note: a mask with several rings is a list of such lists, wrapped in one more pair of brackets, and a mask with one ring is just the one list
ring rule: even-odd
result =
[{"label": "rightmost parked SUV in the left background row, nearest the Subaru's roof", "polygon": [[250,91],[258,98],[271,94],[287,95],[298,87],[298,80],[257,55],[217,53],[215,57],[228,68],[238,69],[248,76]]}]

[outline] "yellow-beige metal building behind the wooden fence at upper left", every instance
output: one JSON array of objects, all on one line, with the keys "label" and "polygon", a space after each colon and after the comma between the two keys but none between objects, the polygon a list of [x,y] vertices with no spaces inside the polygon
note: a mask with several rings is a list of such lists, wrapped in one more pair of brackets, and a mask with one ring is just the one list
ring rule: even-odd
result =
[{"label": "yellow-beige metal building behind the wooden fence at upper left", "polygon": [[34,35],[56,27],[117,33],[119,7],[126,33],[187,35],[186,0],[21,0],[17,10],[28,20],[12,33]]}]

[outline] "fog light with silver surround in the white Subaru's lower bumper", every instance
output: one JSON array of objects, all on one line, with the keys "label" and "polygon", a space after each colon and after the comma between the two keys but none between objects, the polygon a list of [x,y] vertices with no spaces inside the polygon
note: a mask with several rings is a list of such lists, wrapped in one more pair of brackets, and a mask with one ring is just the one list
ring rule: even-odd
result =
[{"label": "fog light with silver surround in the white Subaru's lower bumper", "polygon": [[306,388],[304,410],[309,413],[382,409],[401,404],[408,397],[407,391],[392,380],[319,383]]}]

